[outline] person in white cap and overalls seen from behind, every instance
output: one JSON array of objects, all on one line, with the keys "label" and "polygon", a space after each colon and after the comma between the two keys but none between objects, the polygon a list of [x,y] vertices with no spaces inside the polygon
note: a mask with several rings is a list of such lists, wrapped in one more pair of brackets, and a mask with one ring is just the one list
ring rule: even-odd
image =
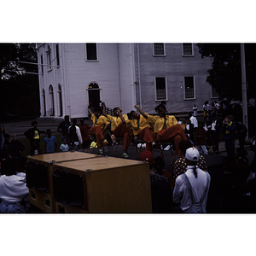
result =
[{"label": "person in white cap and overalls seen from behind", "polygon": [[187,171],[176,179],[173,202],[185,213],[206,213],[211,177],[197,166],[200,154],[196,148],[188,148],[186,158]]}]

